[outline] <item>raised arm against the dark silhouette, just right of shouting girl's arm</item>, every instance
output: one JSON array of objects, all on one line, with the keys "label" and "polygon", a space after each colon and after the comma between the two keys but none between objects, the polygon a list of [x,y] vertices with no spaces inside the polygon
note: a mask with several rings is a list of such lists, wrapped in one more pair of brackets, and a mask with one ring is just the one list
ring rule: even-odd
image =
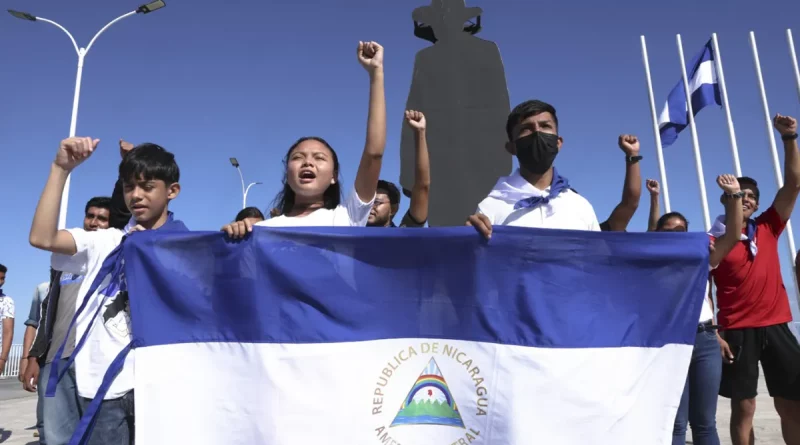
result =
[{"label": "raised arm against the dark silhouette, just right of shouting girl's arm", "polygon": [[408,213],[417,223],[428,220],[428,194],[431,189],[431,165],[428,160],[427,123],[420,111],[406,111],[406,122],[414,130],[414,187]]}]

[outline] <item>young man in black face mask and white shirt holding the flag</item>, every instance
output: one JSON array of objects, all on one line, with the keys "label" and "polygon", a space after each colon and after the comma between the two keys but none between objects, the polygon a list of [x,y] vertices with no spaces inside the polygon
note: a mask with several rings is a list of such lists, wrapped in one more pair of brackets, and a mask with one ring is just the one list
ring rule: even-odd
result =
[{"label": "young man in black face mask and white shirt holding the flag", "polygon": [[492,225],[600,231],[592,205],[569,186],[553,161],[564,140],[552,105],[530,100],[506,122],[506,150],[519,169],[497,181],[467,225],[491,237]]}]

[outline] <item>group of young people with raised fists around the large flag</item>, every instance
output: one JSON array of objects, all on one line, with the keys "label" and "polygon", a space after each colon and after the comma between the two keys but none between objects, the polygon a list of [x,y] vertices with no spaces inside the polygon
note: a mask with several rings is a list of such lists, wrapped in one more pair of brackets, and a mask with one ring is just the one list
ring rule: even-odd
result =
[{"label": "group of young people with raised fists around the large flag", "polygon": [[[357,57],[369,75],[370,95],[367,136],[352,189],[343,193],[339,159],[331,144],[321,137],[302,137],[284,156],[283,187],[269,217],[257,208],[242,210],[235,221],[222,227],[229,238],[246,237],[255,226],[395,227],[400,192],[391,182],[380,179],[386,145],[383,48],[375,42],[359,42]],[[415,110],[406,111],[405,118],[416,135],[416,176],[409,210],[400,227],[424,227],[428,193],[435,187],[425,136],[428,123]],[[695,444],[719,443],[717,394],[732,400],[734,443],[750,443],[759,362],[781,416],[786,443],[800,441],[800,345],[788,328],[791,312],[777,253],[778,236],[800,192],[800,154],[797,122],[778,115],[775,127],[784,141],[786,183],[765,212],[753,218],[760,200],[754,180],[731,175],[717,178],[725,215],[709,234],[709,276],[717,288],[718,321],[713,321],[709,291],[675,419],[676,444],[685,442],[687,424]],[[476,212],[465,215],[467,225],[486,238],[491,238],[495,225],[627,229],[641,195],[639,164],[643,157],[635,136],[619,138],[625,163],[622,199],[599,223],[592,205],[554,167],[564,139],[558,132],[553,106],[538,100],[518,105],[508,117],[506,134],[505,149],[519,160],[519,168],[499,178],[488,196],[476,203]],[[67,443],[89,402],[98,394],[103,402],[93,420],[89,443],[133,443],[133,354],[128,355],[111,386],[100,391],[106,369],[130,342],[127,293],[124,286],[113,285],[113,279],[99,290],[92,289],[92,283],[98,275],[102,279],[103,273],[113,269],[115,252],[127,234],[188,230],[169,211],[170,202],[181,191],[175,157],[155,144],[134,147],[124,142],[120,143],[119,180],[112,197],[103,201],[107,206],[90,201],[83,228],[57,230],[67,176],[92,155],[98,144],[88,137],[61,142],[31,226],[31,244],[52,252],[52,272],[35,339],[30,348],[26,342],[23,384],[30,391],[41,392],[54,362],[66,361],[69,366],[55,386],[54,397],[41,401],[43,443]],[[658,184],[652,180],[646,184],[651,195],[649,230],[687,231],[688,222],[681,214],[659,215]],[[98,219],[98,215],[105,216]],[[88,297],[85,301],[84,296]],[[79,306],[85,306],[81,316],[76,315]],[[102,318],[93,324],[95,319],[86,314],[94,313],[102,314]],[[79,354],[84,344],[89,349]]]}]

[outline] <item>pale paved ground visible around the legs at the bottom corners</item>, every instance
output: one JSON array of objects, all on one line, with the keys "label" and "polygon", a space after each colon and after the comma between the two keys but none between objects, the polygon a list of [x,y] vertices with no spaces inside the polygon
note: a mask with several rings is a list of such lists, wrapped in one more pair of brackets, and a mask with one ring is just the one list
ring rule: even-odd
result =
[{"label": "pale paved ground visible around the legs at the bottom corners", "polygon": [[[767,395],[767,388],[761,381],[758,409],[756,410],[756,442],[759,445],[783,445],[780,420]],[[36,423],[36,397],[23,391],[16,379],[0,380],[0,444],[36,445],[33,425]],[[731,445],[728,434],[730,404],[720,398],[717,409],[717,425],[722,445]],[[691,434],[688,437],[691,443]]]}]

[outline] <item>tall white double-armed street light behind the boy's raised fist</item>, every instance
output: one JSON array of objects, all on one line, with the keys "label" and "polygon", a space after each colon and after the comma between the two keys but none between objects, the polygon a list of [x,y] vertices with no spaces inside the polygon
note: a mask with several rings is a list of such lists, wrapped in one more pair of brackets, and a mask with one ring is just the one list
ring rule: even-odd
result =
[{"label": "tall white double-armed street light behind the boy's raised fist", "polygon": [[[14,16],[14,17],[16,17],[18,19],[26,20],[26,21],[29,21],[29,22],[49,23],[49,24],[55,26],[56,28],[64,31],[64,33],[67,35],[67,37],[69,37],[69,40],[72,42],[72,46],[75,48],[75,52],[78,54],[78,74],[77,74],[77,76],[75,78],[75,96],[72,99],[72,119],[70,120],[70,124],[69,124],[69,137],[74,137],[75,136],[75,127],[76,127],[76,125],[78,123],[78,102],[80,101],[80,97],[81,97],[81,77],[83,76],[83,59],[86,58],[86,54],[89,52],[89,49],[92,48],[92,45],[94,45],[95,40],[97,40],[97,38],[100,37],[100,34],[102,34],[111,25],[113,25],[114,23],[117,23],[118,21],[120,21],[120,20],[122,20],[122,19],[124,19],[126,17],[130,17],[130,16],[135,15],[135,14],[147,14],[147,13],[159,10],[159,9],[163,8],[164,6],[167,6],[167,5],[166,5],[166,3],[164,3],[163,0],[157,0],[157,1],[154,1],[154,2],[150,2],[150,3],[147,3],[147,4],[141,5],[138,8],[136,8],[135,10],[115,18],[114,20],[108,22],[108,24],[106,26],[100,28],[100,31],[97,31],[97,34],[95,34],[94,37],[92,37],[92,40],[89,41],[89,44],[86,46],[86,48],[79,47],[78,44],[75,42],[75,38],[72,37],[72,34],[70,34],[69,31],[67,31],[66,28],[64,28],[63,26],[59,25],[58,23],[56,23],[56,22],[54,22],[52,20],[48,20],[48,19],[45,19],[45,18],[42,18],[42,17],[37,17],[37,16],[35,16],[33,14],[29,14],[27,12],[14,11],[12,9],[8,10],[9,14],[11,14],[12,16]],[[70,177],[67,176],[67,182],[64,184],[64,193],[61,195],[61,208],[59,209],[59,212],[58,212],[58,228],[59,229],[63,229],[63,228],[65,228],[67,226],[67,203],[69,202],[69,182],[70,182]]]}]

